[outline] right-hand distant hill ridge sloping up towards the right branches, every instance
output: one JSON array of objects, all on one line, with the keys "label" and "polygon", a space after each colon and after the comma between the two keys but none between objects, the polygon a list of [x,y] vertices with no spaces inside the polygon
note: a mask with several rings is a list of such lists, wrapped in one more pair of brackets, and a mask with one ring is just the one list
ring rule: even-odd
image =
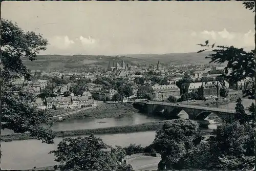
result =
[{"label": "right-hand distant hill ridge sloping up towards the right branches", "polygon": [[190,52],[190,53],[169,53],[169,54],[129,54],[123,56],[130,56],[137,59],[144,59],[152,63],[157,63],[160,60],[161,63],[174,63],[176,65],[182,65],[186,63],[191,64],[207,64],[209,59],[205,59],[205,56],[212,52]]}]

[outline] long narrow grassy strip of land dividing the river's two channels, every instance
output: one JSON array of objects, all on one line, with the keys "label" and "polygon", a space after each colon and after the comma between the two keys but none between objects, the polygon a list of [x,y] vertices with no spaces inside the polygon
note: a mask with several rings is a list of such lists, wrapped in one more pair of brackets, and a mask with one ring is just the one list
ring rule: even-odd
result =
[{"label": "long narrow grassy strip of land dividing the river's two channels", "polygon": [[[86,129],[86,130],[73,130],[73,131],[58,131],[54,132],[55,137],[72,137],[81,135],[91,135],[91,134],[118,134],[118,133],[135,133],[144,131],[157,131],[162,128],[165,121],[159,122],[147,122],[137,125],[126,125],[126,126],[113,126],[104,127],[99,129]],[[204,132],[203,134],[208,134],[211,130]],[[28,134],[10,134],[2,135],[2,141],[13,141],[13,140],[28,140],[36,139]]]}]

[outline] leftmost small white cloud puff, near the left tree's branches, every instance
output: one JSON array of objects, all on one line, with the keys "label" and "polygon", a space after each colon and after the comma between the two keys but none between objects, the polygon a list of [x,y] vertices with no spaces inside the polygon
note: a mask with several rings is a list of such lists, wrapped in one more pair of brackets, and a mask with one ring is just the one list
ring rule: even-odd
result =
[{"label": "leftmost small white cloud puff, near the left tree's branches", "polygon": [[73,40],[69,38],[69,36],[54,36],[49,39],[50,45],[54,46],[58,49],[67,49],[72,44],[75,44]]}]

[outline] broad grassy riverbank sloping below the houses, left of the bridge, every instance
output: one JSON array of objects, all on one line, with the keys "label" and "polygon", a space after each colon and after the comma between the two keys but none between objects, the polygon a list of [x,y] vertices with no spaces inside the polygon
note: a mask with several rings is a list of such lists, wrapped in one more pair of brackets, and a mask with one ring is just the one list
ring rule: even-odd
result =
[{"label": "broad grassy riverbank sloping below the houses, left of the bridge", "polygon": [[63,120],[70,119],[83,119],[83,118],[112,118],[122,117],[124,115],[132,115],[138,110],[133,108],[130,103],[111,103],[111,104],[98,104],[96,108],[88,109],[85,111],[78,112],[76,114],[63,116]]}]

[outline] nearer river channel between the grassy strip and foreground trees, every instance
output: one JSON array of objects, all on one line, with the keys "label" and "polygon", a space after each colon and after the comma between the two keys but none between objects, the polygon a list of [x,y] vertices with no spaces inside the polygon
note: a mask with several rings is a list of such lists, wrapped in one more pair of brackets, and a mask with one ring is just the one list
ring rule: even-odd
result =
[{"label": "nearer river channel between the grassy strip and foreground trees", "polygon": [[[154,141],[155,131],[96,136],[102,138],[103,142],[112,146],[120,145],[124,147],[131,143],[146,146]],[[3,154],[1,157],[2,169],[19,170],[30,169],[34,166],[44,167],[55,165],[57,162],[54,161],[53,154],[48,153],[56,149],[57,144],[61,140],[62,138],[55,138],[55,144],[41,143],[41,141],[35,139],[1,142]]]}]

